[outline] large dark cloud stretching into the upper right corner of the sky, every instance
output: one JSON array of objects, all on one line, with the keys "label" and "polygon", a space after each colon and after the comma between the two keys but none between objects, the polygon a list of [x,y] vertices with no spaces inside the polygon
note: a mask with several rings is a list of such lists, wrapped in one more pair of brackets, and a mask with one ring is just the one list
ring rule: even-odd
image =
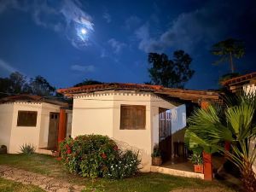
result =
[{"label": "large dark cloud stretching into the upper right corner of the sky", "polygon": [[[251,13],[250,17],[246,16],[248,13]],[[249,3],[209,1],[199,9],[177,15],[177,18],[170,21],[170,27],[160,34],[155,32],[154,25],[149,21],[138,27],[135,31],[139,40],[138,49],[161,52],[172,48],[194,52],[202,44],[207,46],[203,49],[209,49],[210,44],[221,39],[234,35],[234,38],[239,38],[241,34],[247,36],[247,26],[255,28],[255,20],[252,19],[255,13]],[[155,33],[158,35],[153,35]]]}]

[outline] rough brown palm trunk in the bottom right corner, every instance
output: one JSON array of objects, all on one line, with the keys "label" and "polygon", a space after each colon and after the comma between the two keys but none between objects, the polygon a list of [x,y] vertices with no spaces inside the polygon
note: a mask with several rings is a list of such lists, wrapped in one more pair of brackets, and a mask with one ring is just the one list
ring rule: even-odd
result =
[{"label": "rough brown palm trunk in the bottom right corner", "polygon": [[250,163],[245,162],[245,169],[241,172],[241,181],[244,186],[244,190],[247,192],[256,191],[256,175],[253,172],[253,167]]}]

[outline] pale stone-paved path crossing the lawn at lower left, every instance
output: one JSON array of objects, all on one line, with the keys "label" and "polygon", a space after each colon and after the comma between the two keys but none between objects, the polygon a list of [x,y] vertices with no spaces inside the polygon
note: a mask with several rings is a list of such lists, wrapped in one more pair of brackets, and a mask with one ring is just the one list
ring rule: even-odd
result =
[{"label": "pale stone-paved path crossing the lawn at lower left", "polygon": [[26,172],[12,166],[0,166],[0,177],[23,184],[33,184],[49,192],[79,192],[84,189],[55,177],[47,177],[38,173]]}]

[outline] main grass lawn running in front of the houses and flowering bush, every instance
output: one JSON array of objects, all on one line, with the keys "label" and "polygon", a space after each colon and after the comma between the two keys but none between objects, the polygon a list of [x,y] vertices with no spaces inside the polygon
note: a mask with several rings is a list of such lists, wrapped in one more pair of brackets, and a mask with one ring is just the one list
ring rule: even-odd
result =
[{"label": "main grass lawn running in front of the houses and flowering bush", "polygon": [[[137,177],[126,178],[123,180],[108,180],[98,178],[92,181],[90,178],[79,177],[70,174],[61,165],[60,161],[55,160],[53,157],[44,154],[1,154],[0,164],[15,166],[17,168],[37,172],[49,177],[59,177],[67,180],[70,183],[77,183],[86,186],[85,191],[109,191],[109,192],[169,192],[172,189],[210,189],[218,188],[223,191],[232,191],[218,181],[206,182],[200,179],[188,177],[173,177],[160,173],[141,173]],[[13,182],[5,182],[0,180],[0,191],[12,191],[2,189],[3,183],[12,186]],[[20,184],[20,186],[22,186]],[[27,187],[31,187],[27,185]],[[19,190],[14,190],[19,191]],[[20,190],[20,191],[36,191],[36,190]],[[40,191],[40,190],[37,190]],[[205,191],[208,191],[207,189]]]}]

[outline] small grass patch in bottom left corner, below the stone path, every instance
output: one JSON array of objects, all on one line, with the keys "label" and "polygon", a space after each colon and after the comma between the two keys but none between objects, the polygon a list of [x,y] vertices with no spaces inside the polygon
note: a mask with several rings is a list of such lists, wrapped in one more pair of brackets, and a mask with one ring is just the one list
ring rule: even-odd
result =
[{"label": "small grass patch in bottom left corner, below the stone path", "polygon": [[1,192],[44,192],[44,190],[31,184],[21,184],[18,182],[6,180],[0,177]]}]

